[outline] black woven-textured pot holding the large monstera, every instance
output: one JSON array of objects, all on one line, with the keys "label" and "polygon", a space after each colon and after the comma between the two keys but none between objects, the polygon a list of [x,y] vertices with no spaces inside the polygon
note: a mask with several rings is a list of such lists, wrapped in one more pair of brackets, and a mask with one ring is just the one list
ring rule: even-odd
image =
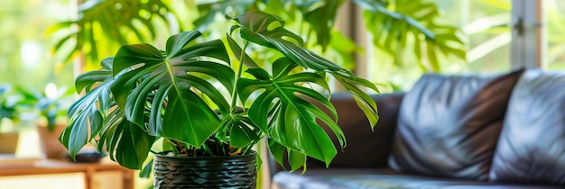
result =
[{"label": "black woven-textured pot holding the large monstera", "polygon": [[155,155],[154,188],[255,188],[256,155],[164,157]]}]

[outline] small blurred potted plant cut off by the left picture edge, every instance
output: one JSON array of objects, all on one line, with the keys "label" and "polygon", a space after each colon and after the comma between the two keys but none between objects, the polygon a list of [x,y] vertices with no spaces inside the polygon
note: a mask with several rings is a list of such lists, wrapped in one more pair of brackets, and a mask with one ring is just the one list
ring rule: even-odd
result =
[{"label": "small blurred potted plant cut off by the left picture edge", "polygon": [[15,130],[19,121],[18,96],[11,95],[12,85],[0,84],[0,154],[14,154],[20,134]]}]

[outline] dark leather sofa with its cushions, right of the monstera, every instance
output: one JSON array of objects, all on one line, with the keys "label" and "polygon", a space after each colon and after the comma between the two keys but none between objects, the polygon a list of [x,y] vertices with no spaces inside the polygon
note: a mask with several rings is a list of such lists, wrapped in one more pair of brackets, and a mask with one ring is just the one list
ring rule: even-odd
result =
[{"label": "dark leather sofa with its cushions, right of the monstera", "polygon": [[373,97],[371,131],[350,96],[333,95],[347,147],[329,167],[278,166],[273,188],[565,188],[565,72],[426,74]]}]

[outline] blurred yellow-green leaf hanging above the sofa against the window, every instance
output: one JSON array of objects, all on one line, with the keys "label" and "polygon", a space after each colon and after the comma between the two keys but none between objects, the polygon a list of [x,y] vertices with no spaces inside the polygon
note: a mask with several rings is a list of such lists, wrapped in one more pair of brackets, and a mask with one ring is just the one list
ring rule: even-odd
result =
[{"label": "blurred yellow-green leaf hanging above the sofa against the window", "polygon": [[440,72],[440,55],[465,59],[458,28],[435,21],[440,16],[435,4],[423,0],[354,2],[366,9],[366,27],[375,46],[395,55],[396,64],[404,64],[403,56],[408,55],[416,57],[424,70]]}]

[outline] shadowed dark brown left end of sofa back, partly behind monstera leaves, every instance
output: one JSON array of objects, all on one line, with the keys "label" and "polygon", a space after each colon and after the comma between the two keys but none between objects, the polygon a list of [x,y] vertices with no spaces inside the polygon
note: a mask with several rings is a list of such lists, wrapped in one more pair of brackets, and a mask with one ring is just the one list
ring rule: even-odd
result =
[{"label": "shadowed dark brown left end of sofa back, partly behind monstera leaves", "polygon": [[[372,131],[366,115],[349,94],[332,94],[331,103],[338,111],[338,125],[345,133],[347,147],[343,151],[338,148],[338,155],[330,164],[331,167],[386,167],[388,155],[392,148],[394,130],[403,93],[397,94],[372,94],[378,106],[379,121]],[[324,130],[329,131],[325,124]],[[336,136],[329,135],[338,147]],[[272,160],[272,159],[271,159]],[[273,172],[282,171],[283,168],[274,161],[270,161]],[[326,165],[309,158],[308,168],[325,168]],[[290,167],[290,166],[286,166]]]}]

